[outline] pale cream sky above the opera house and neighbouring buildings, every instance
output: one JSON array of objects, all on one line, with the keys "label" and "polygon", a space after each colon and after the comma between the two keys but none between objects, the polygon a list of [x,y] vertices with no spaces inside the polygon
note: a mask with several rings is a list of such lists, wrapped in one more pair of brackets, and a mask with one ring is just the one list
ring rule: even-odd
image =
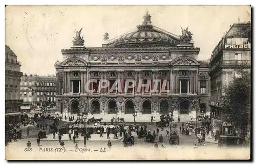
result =
[{"label": "pale cream sky above the opera house and neighbouring buildings", "polygon": [[152,24],[181,35],[181,26],[193,33],[198,60],[208,60],[230,24],[250,21],[249,6],[7,6],[6,45],[27,74],[55,74],[61,49],[70,48],[75,30],[81,28],[84,46],[101,47],[110,39],[136,28],[148,10]]}]

